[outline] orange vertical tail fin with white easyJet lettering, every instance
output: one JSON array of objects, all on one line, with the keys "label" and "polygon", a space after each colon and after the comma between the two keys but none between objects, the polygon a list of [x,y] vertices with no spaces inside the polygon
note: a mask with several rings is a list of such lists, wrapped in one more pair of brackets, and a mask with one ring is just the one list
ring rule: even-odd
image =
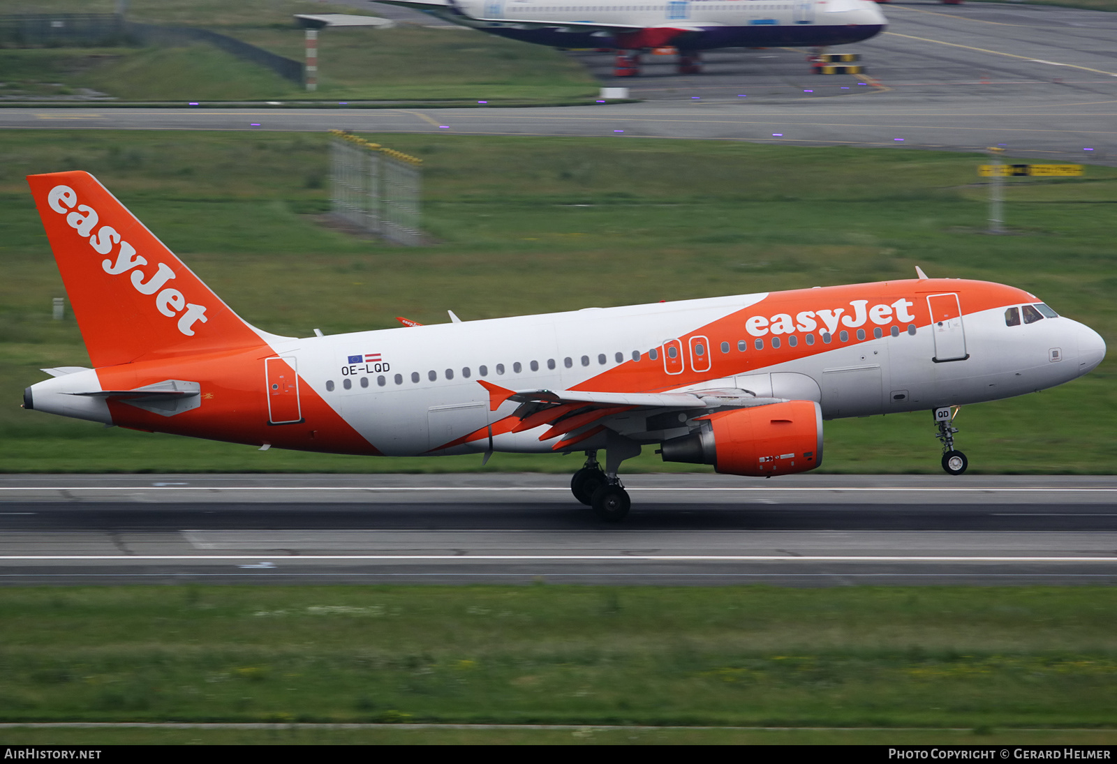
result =
[{"label": "orange vertical tail fin with white easyJet lettering", "polygon": [[95,366],[260,343],[96,178],[27,181]]}]

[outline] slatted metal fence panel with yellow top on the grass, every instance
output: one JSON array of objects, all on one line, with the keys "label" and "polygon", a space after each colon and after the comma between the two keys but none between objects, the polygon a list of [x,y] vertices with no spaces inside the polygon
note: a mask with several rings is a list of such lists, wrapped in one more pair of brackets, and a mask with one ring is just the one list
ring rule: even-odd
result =
[{"label": "slatted metal fence panel with yellow top on the grass", "polygon": [[395,243],[421,243],[422,160],[340,130],[331,133],[333,214]]}]

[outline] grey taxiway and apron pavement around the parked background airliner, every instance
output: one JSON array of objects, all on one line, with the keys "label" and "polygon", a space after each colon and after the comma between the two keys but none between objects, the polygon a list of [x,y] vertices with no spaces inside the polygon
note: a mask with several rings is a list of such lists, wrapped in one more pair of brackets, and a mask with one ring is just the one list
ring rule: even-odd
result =
[{"label": "grey taxiway and apron pavement around the parked background airliner", "polygon": [[1117,164],[1117,15],[993,3],[884,10],[886,32],[836,48],[862,54],[868,76],[812,75],[802,50],[771,49],[713,51],[699,76],[675,75],[672,57],[648,56],[645,76],[619,80],[609,54],[575,52],[603,85],[630,87],[647,101],[554,108],[27,107],[0,109],[0,127],[337,127],[953,151],[1005,144],[1015,156]]}]

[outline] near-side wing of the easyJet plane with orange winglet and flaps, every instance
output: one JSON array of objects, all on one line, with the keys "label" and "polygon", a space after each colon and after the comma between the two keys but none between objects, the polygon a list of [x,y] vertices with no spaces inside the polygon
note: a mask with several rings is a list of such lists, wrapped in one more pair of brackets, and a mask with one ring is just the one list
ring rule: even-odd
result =
[{"label": "near-side wing of the easyJet plane with orange winglet and flaps", "polygon": [[[716,389],[672,393],[618,393],[584,390],[507,390],[478,380],[489,393],[489,409],[506,401],[519,403],[509,419],[509,432],[548,424],[540,440],[563,437],[552,448],[570,449],[605,428],[634,440],[663,439],[666,432],[689,431],[687,422],[716,410],[782,403],[782,398],[757,398],[747,390]],[[680,414],[681,418],[680,418]],[[515,420],[518,420],[516,422]],[[678,434],[678,433],[677,433]]]}]

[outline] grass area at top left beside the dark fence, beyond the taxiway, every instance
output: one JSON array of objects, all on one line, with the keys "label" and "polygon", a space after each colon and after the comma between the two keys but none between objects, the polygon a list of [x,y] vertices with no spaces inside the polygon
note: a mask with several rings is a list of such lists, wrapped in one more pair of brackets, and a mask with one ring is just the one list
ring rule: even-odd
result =
[{"label": "grass area at top left beside the dark fence, beyond the taxiway", "polygon": [[[113,12],[103,0],[36,2],[44,10]],[[12,12],[20,10],[13,8]],[[306,0],[133,0],[128,19],[201,27],[303,60],[303,31],[293,13],[364,13]],[[68,95],[76,88],[132,102],[187,101],[449,101],[476,104],[585,102],[596,93],[576,63],[542,46],[462,27],[327,29],[319,35],[319,85],[314,94],[270,70],[208,45],[128,49],[0,49],[0,95]]]}]

